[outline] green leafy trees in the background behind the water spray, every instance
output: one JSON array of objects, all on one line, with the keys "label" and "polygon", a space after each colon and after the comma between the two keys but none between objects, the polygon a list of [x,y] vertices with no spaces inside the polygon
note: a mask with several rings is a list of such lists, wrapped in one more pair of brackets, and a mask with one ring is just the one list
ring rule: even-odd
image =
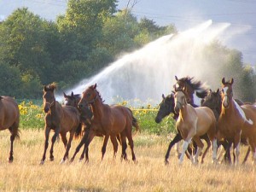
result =
[{"label": "green leafy trees in the background behind the water spray", "polygon": [[[56,21],[16,9],[0,23],[0,95],[38,99],[43,85],[52,82],[65,90],[120,54],[176,32],[174,25],[158,26],[137,20],[129,9],[117,10],[116,0],[70,0]],[[240,51],[215,42],[203,54],[214,60],[220,75],[236,79],[243,101],[254,101],[255,73]]]}]

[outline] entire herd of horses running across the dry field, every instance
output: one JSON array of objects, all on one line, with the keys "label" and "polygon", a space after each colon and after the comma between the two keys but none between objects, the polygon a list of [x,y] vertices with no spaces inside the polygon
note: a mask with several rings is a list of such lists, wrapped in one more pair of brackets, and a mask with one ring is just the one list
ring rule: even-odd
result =
[{"label": "entire herd of horses running across the dry field", "polygon": [[[224,147],[224,160],[231,162],[230,148],[234,148],[234,161],[239,163],[240,143],[249,145],[247,156],[252,151],[253,161],[256,160],[256,105],[245,104],[233,98],[233,79],[226,81],[222,79],[222,87],[216,91],[207,90],[201,81],[185,77],[178,79],[173,85],[172,94],[164,96],[160,102],[159,111],[155,122],[160,121],[173,113],[176,120],[177,134],[169,144],[166,152],[166,164],[169,154],[174,146],[183,140],[182,152],[179,154],[179,163],[183,162],[186,155],[193,164],[199,162],[202,154],[203,162],[207,151],[212,146],[212,162],[217,162],[218,147]],[[49,160],[54,160],[54,144],[60,135],[65,146],[65,153],[61,163],[67,161],[68,152],[71,148],[73,137],[82,137],[79,145],[70,159],[72,162],[84,146],[79,160],[89,160],[89,145],[94,137],[104,137],[102,145],[102,159],[106,152],[108,139],[113,144],[113,157],[116,156],[119,143],[122,146],[121,160],[127,160],[127,140],[131,148],[132,160],[136,162],[134,144],[132,139],[132,127],[140,130],[137,119],[133,116],[130,108],[124,106],[109,106],[102,101],[102,97],[96,84],[84,90],[82,95],[70,96],[64,93],[64,105],[55,100],[55,84],[44,86],[44,154],[40,164],[43,165],[46,159],[46,152],[49,146],[49,132],[55,133],[51,138]],[[201,107],[195,105],[194,94],[202,98]],[[13,143],[15,137],[19,137],[20,113],[15,100],[9,96],[0,96],[0,130],[9,129],[11,132],[11,146],[9,162],[13,161]],[[69,137],[67,140],[67,132]],[[202,153],[204,139],[207,148]]]}]

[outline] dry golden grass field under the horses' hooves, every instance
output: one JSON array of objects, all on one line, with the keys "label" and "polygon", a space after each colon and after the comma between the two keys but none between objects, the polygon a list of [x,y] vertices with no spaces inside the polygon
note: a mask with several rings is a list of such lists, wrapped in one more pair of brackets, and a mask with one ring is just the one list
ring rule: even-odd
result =
[{"label": "dry golden grass field under the horses' hooves", "polygon": [[[90,144],[90,163],[78,162],[59,165],[64,148],[55,144],[55,161],[42,158],[44,131],[22,131],[15,142],[15,160],[7,162],[9,132],[0,132],[0,191],[256,191],[255,166],[251,158],[245,166],[212,165],[207,154],[204,165],[192,166],[189,160],[178,165],[174,150],[170,165],[165,166],[168,146],[166,137],[137,134],[135,152],[137,164],[113,160],[112,144],[108,143],[105,159],[101,162],[102,138]],[[78,141],[72,146],[71,155]],[[246,148],[241,148],[241,157]],[[131,160],[131,150],[127,148]],[[49,158],[49,153],[47,153]]]}]

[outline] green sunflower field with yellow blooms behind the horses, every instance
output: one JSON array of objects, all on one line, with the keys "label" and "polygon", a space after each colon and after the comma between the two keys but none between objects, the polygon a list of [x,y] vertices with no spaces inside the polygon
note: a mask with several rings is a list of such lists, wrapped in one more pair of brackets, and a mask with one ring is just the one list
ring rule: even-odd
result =
[{"label": "green sunflower field with yellow blooms behind the horses", "polygon": [[[120,105],[127,105],[127,102],[120,102]],[[126,106],[127,107],[127,106]],[[40,130],[44,129],[44,111],[41,101],[24,100],[19,102],[20,108],[20,129]],[[131,107],[130,107],[131,108]],[[150,105],[140,108],[131,108],[135,118],[138,120],[141,131],[148,134],[167,135],[175,132],[175,121],[172,115],[163,119],[160,124],[155,123],[154,119],[157,109]],[[138,110],[137,110],[138,109]]]}]

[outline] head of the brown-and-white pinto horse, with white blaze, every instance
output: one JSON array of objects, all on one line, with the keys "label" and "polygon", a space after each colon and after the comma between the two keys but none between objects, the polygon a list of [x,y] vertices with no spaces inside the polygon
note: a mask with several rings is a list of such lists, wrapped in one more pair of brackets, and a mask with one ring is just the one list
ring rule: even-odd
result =
[{"label": "head of the brown-and-white pinto horse, with white blaze", "polygon": [[230,102],[233,99],[233,90],[232,90],[233,83],[234,83],[233,78],[229,81],[225,81],[224,78],[222,79],[221,98],[222,98],[222,105],[224,108],[229,108]]}]

